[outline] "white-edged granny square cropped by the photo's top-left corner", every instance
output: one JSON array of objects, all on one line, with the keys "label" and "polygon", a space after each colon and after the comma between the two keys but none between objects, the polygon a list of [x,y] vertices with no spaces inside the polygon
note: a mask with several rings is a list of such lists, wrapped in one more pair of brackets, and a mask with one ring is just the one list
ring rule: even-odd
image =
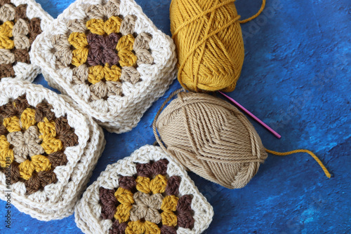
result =
[{"label": "white-edged granny square cropped by the photo's top-left corner", "polygon": [[32,64],[29,51],[52,21],[34,0],[0,0],[0,80],[34,80],[40,69]]}]

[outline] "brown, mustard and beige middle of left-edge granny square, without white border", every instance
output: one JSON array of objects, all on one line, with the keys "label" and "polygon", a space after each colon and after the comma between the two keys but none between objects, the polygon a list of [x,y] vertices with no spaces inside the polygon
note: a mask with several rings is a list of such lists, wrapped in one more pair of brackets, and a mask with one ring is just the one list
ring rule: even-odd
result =
[{"label": "brown, mustard and beige middle of left-edge granny square, without white border", "polygon": [[67,118],[55,118],[52,108],[44,101],[30,106],[26,95],[0,106],[0,170],[10,163],[11,184],[24,182],[27,195],[55,184],[53,170],[68,162],[65,149],[78,144]]}]

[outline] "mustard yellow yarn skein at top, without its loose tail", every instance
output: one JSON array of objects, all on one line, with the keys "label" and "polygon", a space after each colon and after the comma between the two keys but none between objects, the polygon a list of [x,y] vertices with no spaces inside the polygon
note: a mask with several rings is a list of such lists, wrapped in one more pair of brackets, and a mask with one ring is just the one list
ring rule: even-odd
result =
[{"label": "mustard yellow yarn skein at top, without its loose tail", "polygon": [[234,90],[244,62],[244,41],[233,2],[171,2],[171,32],[183,88],[196,92]]}]

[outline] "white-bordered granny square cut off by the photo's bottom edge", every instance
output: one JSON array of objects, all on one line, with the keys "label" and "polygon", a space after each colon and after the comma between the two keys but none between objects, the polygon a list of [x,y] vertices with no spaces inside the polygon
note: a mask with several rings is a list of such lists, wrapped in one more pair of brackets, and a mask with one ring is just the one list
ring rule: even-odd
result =
[{"label": "white-bordered granny square cut off by the photo's bottom edge", "polygon": [[183,167],[147,145],[108,165],[74,214],[84,233],[201,233],[213,208]]}]

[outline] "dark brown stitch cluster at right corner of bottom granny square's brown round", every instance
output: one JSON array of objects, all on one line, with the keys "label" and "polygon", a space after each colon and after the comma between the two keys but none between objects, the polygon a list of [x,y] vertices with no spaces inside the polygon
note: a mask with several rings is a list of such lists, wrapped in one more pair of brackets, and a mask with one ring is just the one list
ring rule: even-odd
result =
[{"label": "dark brown stitch cluster at right corner of bottom granny square's brown round", "polygon": [[177,213],[178,213],[178,226],[181,228],[194,228],[194,212],[191,207],[192,197],[190,195],[183,195],[178,200]]}]

